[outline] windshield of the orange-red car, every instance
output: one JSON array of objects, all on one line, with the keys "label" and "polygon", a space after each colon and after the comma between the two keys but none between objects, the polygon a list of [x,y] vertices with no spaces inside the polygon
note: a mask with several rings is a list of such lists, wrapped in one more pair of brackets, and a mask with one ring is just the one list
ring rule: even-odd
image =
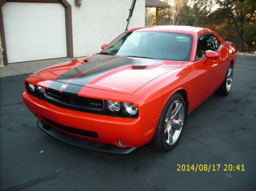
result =
[{"label": "windshield of the orange-red car", "polygon": [[189,61],[192,36],[169,32],[124,32],[100,54]]}]

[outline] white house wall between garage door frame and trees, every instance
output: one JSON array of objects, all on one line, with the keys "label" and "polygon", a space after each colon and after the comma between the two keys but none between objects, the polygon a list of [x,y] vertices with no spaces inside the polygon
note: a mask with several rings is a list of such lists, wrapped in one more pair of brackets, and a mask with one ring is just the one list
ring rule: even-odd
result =
[{"label": "white house wall between garage door frame and trees", "polygon": [[[74,57],[98,53],[101,45],[111,42],[126,27],[132,0],[83,0],[80,8],[74,0],[72,28]],[[145,0],[137,0],[129,29],[145,25]]]}]

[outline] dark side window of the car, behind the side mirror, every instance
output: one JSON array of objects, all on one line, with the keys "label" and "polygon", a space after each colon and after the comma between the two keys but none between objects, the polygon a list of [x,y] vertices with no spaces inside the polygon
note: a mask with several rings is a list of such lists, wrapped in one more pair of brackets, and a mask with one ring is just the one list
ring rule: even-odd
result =
[{"label": "dark side window of the car, behind the side mirror", "polygon": [[203,58],[206,51],[218,51],[220,44],[220,41],[212,34],[200,36],[197,44],[196,59]]}]

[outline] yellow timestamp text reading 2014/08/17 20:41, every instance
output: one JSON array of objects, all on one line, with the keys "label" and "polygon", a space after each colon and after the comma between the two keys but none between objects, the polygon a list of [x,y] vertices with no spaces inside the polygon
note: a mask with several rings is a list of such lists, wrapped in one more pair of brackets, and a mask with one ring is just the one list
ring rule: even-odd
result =
[{"label": "yellow timestamp text reading 2014/08/17 20:41", "polygon": [[214,172],[245,171],[244,164],[177,164],[177,171]]}]

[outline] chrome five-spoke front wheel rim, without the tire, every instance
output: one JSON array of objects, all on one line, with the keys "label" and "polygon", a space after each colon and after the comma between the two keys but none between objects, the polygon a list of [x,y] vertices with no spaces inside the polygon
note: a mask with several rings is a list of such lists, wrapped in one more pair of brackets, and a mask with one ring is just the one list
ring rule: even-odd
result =
[{"label": "chrome five-spoke front wheel rim, without the tire", "polygon": [[171,146],[179,139],[184,124],[184,105],[176,99],[170,104],[164,124],[164,139]]}]

